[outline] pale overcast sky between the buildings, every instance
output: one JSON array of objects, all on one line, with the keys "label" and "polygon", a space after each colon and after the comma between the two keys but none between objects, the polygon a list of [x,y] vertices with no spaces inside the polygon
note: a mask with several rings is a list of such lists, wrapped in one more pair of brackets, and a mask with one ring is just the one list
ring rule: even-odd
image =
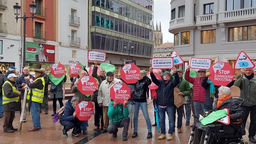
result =
[{"label": "pale overcast sky between the buildings", "polygon": [[[173,42],[174,35],[169,33],[169,22],[171,21],[171,0],[155,0],[154,1],[154,25],[160,23],[163,33],[163,43]],[[159,24],[158,24],[159,26]],[[156,27],[155,27],[156,29]]]}]

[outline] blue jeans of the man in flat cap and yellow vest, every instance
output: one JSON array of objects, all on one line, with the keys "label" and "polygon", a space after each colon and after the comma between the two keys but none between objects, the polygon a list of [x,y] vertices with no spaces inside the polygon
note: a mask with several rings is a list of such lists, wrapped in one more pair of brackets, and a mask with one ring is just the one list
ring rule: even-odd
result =
[{"label": "blue jeans of the man in flat cap and yellow vest", "polygon": [[41,127],[39,104],[40,103],[38,102],[31,102],[32,121],[33,121],[33,126],[36,129],[39,129]]}]

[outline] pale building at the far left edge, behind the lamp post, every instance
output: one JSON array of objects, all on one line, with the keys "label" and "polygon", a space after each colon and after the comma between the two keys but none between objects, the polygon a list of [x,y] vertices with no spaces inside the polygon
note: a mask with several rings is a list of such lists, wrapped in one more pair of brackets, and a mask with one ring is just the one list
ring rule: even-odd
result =
[{"label": "pale building at the far left edge, behind the lamp post", "polygon": [[21,20],[16,23],[15,2],[0,0],[0,71],[3,74],[10,66],[21,68]]}]

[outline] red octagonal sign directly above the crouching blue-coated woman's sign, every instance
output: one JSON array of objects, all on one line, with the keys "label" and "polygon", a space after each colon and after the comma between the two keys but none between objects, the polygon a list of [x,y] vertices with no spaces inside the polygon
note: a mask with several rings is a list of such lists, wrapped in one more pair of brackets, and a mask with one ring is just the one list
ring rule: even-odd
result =
[{"label": "red octagonal sign directly above the crouching blue-coated woman's sign", "polygon": [[95,90],[97,90],[97,84],[96,84],[95,78],[93,76],[83,76],[78,80],[77,89],[82,94],[92,94]]}]

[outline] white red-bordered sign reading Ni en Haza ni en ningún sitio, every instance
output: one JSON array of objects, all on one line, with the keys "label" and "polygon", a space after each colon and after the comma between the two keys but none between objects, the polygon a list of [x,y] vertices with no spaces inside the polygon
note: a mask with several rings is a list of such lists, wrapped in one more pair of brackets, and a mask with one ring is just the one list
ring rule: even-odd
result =
[{"label": "white red-bordered sign reading Ni en Haza ni en ning\u00fan sitio", "polygon": [[210,58],[191,58],[191,68],[208,70],[211,67]]}]

